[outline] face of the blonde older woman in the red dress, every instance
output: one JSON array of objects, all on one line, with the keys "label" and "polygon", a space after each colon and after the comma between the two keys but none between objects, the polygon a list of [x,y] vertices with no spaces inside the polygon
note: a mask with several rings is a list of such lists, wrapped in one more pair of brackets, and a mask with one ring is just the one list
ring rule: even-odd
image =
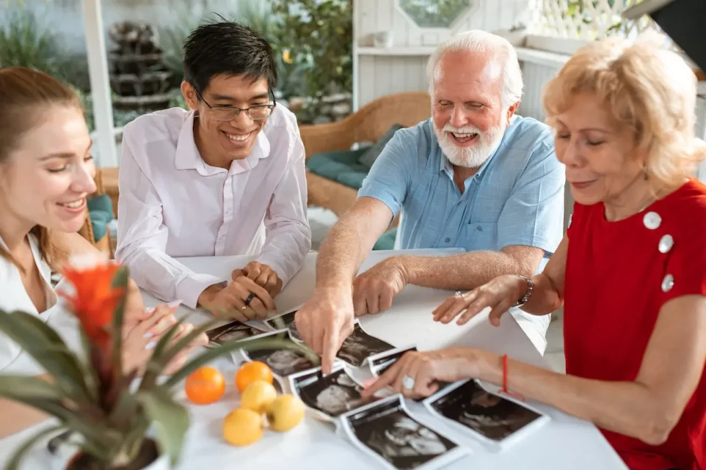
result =
[{"label": "face of the blonde older woman in the red dress", "polygon": [[575,95],[556,116],[555,146],[578,203],[611,203],[644,181],[645,153],[635,145],[633,132],[592,93]]}]

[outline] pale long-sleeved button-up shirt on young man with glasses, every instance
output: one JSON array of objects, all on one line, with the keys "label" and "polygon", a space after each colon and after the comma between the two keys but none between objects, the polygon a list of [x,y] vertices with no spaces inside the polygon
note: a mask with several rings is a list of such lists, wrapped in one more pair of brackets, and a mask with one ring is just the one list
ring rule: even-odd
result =
[{"label": "pale long-sleeved button-up shirt on young man with glasses", "polygon": [[297,118],[275,107],[251,154],[226,170],[201,158],[194,114],[166,109],[125,127],[116,258],[139,287],[191,308],[221,279],[174,257],[258,255],[286,285],[311,248]]}]

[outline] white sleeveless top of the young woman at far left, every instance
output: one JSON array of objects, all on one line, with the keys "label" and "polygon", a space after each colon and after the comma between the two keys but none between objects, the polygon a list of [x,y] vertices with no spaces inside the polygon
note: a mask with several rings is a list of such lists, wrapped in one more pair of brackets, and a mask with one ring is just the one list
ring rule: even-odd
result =
[{"label": "white sleeveless top of the young woman at far left", "polygon": [[[0,295],[0,309],[6,312],[22,311],[35,315],[49,324],[49,326],[54,327],[59,332],[59,335],[63,337],[69,349],[75,350],[79,345],[78,321],[73,315],[67,315],[66,310],[57,301],[58,296],[56,296],[51,282],[52,269],[42,259],[37,239],[31,234],[28,239],[32,248],[32,255],[35,258],[35,264],[42,276],[44,292],[47,297],[46,308],[42,313],[37,311],[37,307],[35,307],[32,299],[25,291],[25,285],[22,283],[18,267],[4,256],[0,256],[0,292],[2,293]],[[7,246],[2,239],[0,239],[0,246],[7,251]],[[31,356],[24,353],[16,342],[0,332],[0,372],[4,374],[39,375],[44,373],[44,370],[35,363]]]}]

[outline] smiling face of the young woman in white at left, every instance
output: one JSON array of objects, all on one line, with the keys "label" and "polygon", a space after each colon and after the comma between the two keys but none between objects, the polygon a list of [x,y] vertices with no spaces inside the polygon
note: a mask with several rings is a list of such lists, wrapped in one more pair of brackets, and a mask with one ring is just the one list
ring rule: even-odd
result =
[{"label": "smiling face of the young woman in white at left", "polygon": [[27,230],[76,232],[95,192],[88,128],[75,107],[51,105],[41,118],[0,164],[0,210]]}]

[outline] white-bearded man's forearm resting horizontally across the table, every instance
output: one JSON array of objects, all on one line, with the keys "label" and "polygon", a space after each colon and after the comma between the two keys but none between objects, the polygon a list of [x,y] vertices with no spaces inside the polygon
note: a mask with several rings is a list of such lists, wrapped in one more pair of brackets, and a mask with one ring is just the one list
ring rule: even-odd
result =
[{"label": "white-bearded man's forearm resting horizontally across the table", "polygon": [[453,256],[402,255],[396,261],[402,265],[409,284],[434,289],[470,290],[502,275],[532,275],[532,267],[496,251],[472,251]]}]

